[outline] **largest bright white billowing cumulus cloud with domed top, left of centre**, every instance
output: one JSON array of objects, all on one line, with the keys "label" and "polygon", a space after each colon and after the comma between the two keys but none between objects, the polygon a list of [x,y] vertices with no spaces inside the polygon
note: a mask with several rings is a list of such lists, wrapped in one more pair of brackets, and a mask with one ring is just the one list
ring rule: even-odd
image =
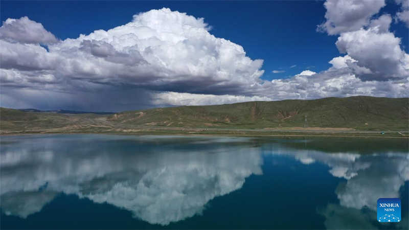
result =
[{"label": "largest bright white billowing cumulus cloud with domed top, left of centre", "polygon": [[[203,18],[163,8],[126,25],[50,46],[65,59],[60,75],[156,90],[218,94],[258,81],[262,60],[209,33]],[[234,87],[229,87],[234,85]]]}]

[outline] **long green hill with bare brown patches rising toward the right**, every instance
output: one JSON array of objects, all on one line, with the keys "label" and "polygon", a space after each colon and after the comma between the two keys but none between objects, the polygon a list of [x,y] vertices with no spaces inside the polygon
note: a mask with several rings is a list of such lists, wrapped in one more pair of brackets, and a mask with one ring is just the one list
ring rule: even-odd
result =
[{"label": "long green hill with bare brown patches rising toward the right", "polygon": [[345,127],[360,130],[407,130],[407,98],[324,98],[181,106],[125,111],[108,120],[122,124],[169,127],[272,128]]}]

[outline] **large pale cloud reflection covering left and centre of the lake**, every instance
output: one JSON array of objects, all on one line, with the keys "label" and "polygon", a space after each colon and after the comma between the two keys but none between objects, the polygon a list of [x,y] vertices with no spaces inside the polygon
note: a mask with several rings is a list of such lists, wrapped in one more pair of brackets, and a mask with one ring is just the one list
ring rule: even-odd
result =
[{"label": "large pale cloud reflection covering left and centre of the lake", "polygon": [[[2,150],[2,208],[6,214],[26,218],[52,199],[44,199],[38,189],[77,194],[98,203],[107,202],[129,210],[135,217],[162,225],[200,214],[209,200],[243,186],[251,174],[261,174],[258,148],[234,146],[228,139],[210,144],[206,140],[185,140],[194,148],[152,140],[112,142],[110,148],[49,143],[44,151],[37,145]],[[203,142],[203,143],[202,143]],[[130,145],[121,151],[121,145]],[[165,149],[166,148],[166,149]],[[139,150],[139,151],[138,151]],[[133,152],[134,151],[134,152]],[[3,160],[4,159],[4,160]],[[31,195],[27,195],[31,194]],[[16,197],[24,196],[25,199]],[[9,197],[15,197],[9,199]],[[24,202],[25,208],[16,209]],[[31,205],[27,208],[27,205]]]}]

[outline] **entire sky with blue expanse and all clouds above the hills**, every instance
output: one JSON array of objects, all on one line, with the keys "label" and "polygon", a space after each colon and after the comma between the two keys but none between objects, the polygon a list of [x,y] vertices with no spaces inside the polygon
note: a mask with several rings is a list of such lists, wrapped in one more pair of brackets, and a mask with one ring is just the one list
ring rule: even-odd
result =
[{"label": "entire sky with blue expanse and all clouds above the hills", "polygon": [[408,97],[409,3],[2,1],[0,104]]}]

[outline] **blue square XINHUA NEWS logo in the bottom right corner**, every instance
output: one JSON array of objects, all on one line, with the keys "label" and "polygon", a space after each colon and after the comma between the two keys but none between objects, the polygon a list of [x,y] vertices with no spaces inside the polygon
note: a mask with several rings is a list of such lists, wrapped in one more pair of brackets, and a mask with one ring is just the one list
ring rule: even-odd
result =
[{"label": "blue square XINHUA NEWS logo in the bottom right corner", "polygon": [[377,214],[379,222],[399,222],[401,220],[400,199],[379,198]]}]

